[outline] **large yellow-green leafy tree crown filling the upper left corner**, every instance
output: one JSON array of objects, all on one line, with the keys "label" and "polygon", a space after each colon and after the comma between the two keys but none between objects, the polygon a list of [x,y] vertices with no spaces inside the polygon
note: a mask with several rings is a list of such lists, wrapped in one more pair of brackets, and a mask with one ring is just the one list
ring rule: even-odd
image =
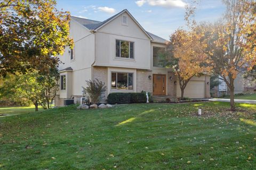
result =
[{"label": "large yellow-green leafy tree crown filling the upper left corner", "polygon": [[68,12],[54,0],[0,2],[0,74],[44,71],[58,65],[65,46],[73,48]]}]

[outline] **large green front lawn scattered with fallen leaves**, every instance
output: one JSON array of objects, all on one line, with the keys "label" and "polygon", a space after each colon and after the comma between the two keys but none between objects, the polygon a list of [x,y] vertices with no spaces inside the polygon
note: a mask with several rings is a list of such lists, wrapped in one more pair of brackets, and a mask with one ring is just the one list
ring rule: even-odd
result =
[{"label": "large green front lawn scattered with fallen leaves", "polygon": [[236,106],[247,112],[213,102],[0,117],[0,169],[254,169],[256,105]]}]

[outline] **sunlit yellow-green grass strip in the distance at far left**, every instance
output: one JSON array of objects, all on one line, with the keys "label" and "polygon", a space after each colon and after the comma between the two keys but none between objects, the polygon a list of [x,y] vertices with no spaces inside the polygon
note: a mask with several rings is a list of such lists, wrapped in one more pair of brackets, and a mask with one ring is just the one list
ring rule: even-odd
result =
[{"label": "sunlit yellow-green grass strip in the distance at far left", "polygon": [[[38,107],[42,109],[41,106]],[[26,114],[35,111],[35,106],[28,107],[0,107],[0,115],[11,116],[11,115],[19,115]]]}]

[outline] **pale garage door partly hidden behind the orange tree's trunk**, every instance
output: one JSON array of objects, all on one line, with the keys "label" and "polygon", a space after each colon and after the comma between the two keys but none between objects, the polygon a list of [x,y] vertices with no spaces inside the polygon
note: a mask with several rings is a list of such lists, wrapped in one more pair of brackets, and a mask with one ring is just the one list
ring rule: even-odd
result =
[{"label": "pale garage door partly hidden behind the orange tree's trunk", "polygon": [[[205,81],[190,80],[185,88],[184,97],[205,98]],[[181,97],[180,85],[177,82],[177,97]]]}]

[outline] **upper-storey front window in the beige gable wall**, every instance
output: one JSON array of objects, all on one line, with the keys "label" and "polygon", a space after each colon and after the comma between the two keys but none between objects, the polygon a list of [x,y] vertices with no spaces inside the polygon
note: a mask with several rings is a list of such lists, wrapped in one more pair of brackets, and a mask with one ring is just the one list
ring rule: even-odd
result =
[{"label": "upper-storey front window in the beige gable wall", "polygon": [[134,58],[134,43],[116,40],[116,57]]}]

